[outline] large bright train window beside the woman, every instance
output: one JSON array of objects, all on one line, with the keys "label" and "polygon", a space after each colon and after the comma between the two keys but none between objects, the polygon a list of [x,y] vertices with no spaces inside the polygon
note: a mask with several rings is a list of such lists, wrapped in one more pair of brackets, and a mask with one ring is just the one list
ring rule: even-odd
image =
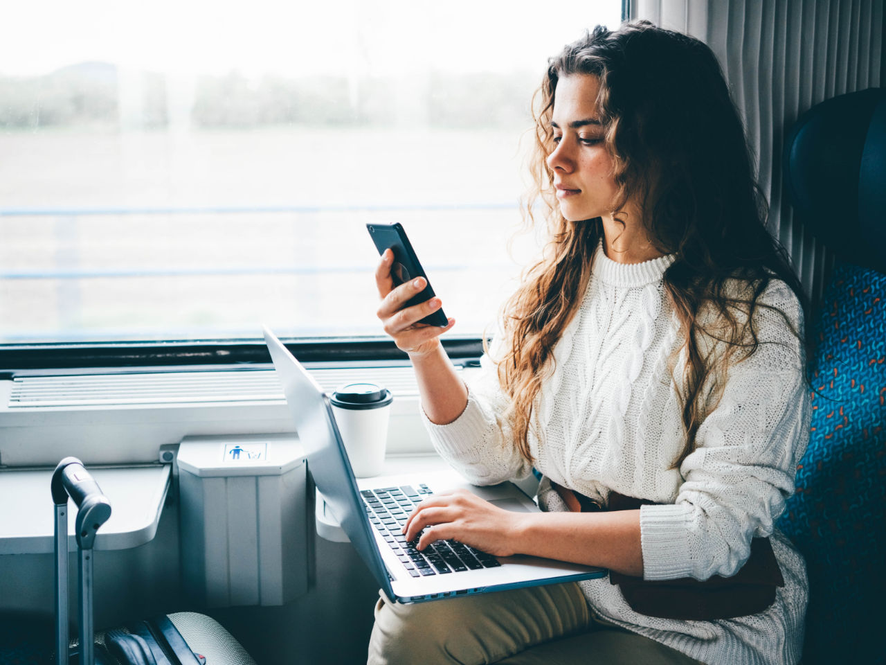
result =
[{"label": "large bright train window beside the woman", "polygon": [[[377,335],[369,221],[478,336],[548,56],[621,0],[19,3],[0,27],[0,344]],[[522,138],[522,141],[521,141]]]}]

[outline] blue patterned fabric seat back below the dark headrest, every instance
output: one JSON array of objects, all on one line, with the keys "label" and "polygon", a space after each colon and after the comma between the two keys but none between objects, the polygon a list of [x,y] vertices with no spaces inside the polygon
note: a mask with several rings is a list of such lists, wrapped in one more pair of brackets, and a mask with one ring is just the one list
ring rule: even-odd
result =
[{"label": "blue patterned fabric seat back below the dark headrest", "polygon": [[804,663],[884,662],[886,275],[838,262],[817,316],[812,432],[779,521],[809,574]]}]

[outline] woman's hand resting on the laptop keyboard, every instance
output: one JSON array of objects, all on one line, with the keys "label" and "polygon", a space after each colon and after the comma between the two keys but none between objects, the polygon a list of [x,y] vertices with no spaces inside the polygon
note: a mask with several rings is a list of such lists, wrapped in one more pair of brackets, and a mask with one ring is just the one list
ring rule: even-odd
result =
[{"label": "woman's hand resting on the laptop keyboard", "polygon": [[456,489],[424,499],[409,515],[403,533],[408,541],[421,534],[416,545],[419,551],[438,540],[457,540],[497,557],[509,557],[517,553],[521,514],[525,517],[466,489]]}]

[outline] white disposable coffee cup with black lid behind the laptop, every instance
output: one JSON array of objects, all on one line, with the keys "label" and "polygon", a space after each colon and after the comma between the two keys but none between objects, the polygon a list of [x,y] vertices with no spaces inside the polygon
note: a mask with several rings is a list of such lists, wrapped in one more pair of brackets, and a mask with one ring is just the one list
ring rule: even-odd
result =
[{"label": "white disposable coffee cup with black lid behind the laptop", "polygon": [[374,383],[350,383],[332,397],[332,413],[357,478],[382,473],[393,395]]}]

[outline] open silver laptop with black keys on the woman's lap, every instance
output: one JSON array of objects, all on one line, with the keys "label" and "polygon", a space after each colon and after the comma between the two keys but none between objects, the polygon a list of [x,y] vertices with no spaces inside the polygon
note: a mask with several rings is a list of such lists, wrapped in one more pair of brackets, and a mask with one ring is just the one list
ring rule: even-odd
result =
[{"label": "open silver laptop with black keys on the woman's lap", "polygon": [[539,512],[510,482],[476,487],[455,472],[354,478],[329,397],[265,328],[276,375],[283,386],[307,468],[326,505],[389,599],[401,603],[518,587],[577,582],[606,575],[605,568],[530,556],[494,557],[466,544],[438,541],[418,552],[402,525],[413,506],[433,491],[464,487],[505,510]]}]

